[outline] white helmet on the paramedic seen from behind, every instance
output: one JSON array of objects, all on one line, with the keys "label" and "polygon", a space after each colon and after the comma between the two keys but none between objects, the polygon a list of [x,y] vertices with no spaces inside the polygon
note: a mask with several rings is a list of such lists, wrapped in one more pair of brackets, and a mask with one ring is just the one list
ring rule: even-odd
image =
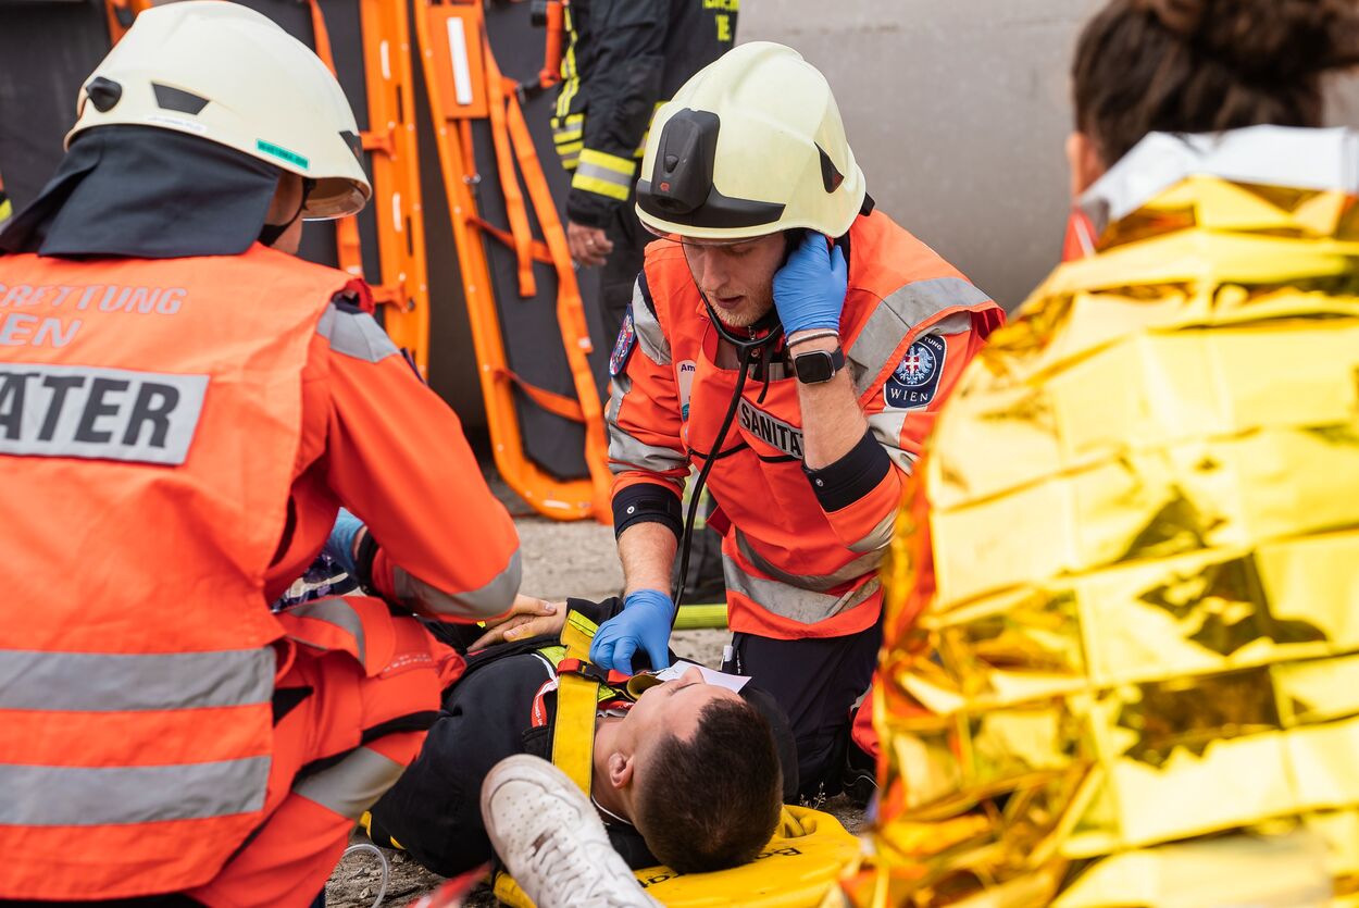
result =
[{"label": "white helmet on the paramedic seen from behind", "polygon": [[268,16],[224,0],[152,7],[86,80],[86,129],[137,125],[201,136],[315,181],[303,217],[352,215],[372,196],[340,83]]}]

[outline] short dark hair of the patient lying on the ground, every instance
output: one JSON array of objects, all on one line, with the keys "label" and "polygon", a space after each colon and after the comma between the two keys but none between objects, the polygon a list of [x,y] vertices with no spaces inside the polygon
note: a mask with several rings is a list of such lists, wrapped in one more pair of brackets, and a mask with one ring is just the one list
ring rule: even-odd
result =
[{"label": "short dark hair of the patient lying on the ground", "polygon": [[773,734],[754,707],[715,700],[690,741],[660,742],[639,780],[633,820],[647,847],[680,873],[754,860],[783,803]]}]

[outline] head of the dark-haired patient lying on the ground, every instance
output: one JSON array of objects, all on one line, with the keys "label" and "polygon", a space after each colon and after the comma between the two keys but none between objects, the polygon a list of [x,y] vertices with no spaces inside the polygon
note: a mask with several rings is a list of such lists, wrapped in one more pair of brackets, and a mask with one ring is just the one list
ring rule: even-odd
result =
[{"label": "head of the dark-haired patient lying on the ground", "polygon": [[628,790],[633,824],[674,870],[735,867],[773,835],[783,780],[769,723],[697,669],[643,693],[612,749],[610,783]]}]

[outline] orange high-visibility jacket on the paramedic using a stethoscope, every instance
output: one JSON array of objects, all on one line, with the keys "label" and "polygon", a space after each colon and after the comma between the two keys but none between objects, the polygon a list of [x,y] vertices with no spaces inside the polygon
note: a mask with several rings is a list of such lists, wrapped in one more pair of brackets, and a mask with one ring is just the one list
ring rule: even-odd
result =
[{"label": "orange high-visibility jacket on the paramedic using a stethoscope", "polygon": [[[894,466],[862,496],[828,508],[802,465],[796,378],[776,363],[768,389],[747,381],[708,477],[731,523],[722,548],[733,631],[829,638],[878,620],[877,570],[902,476],[935,408],[1002,319],[984,292],[890,217],[855,220],[841,343],[870,431]],[[616,496],[643,483],[680,495],[689,464],[713,453],[738,378],[715,364],[718,343],[681,246],[648,246],[614,356]]]}]

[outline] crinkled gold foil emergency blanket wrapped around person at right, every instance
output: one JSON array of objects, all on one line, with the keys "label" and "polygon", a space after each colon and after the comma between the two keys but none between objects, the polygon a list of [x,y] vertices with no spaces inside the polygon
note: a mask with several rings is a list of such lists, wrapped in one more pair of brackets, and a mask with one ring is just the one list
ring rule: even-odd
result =
[{"label": "crinkled gold foil emergency blanket wrapped around person at right", "polygon": [[887,568],[855,903],[1359,904],[1355,212],[1188,177],[969,367]]}]

